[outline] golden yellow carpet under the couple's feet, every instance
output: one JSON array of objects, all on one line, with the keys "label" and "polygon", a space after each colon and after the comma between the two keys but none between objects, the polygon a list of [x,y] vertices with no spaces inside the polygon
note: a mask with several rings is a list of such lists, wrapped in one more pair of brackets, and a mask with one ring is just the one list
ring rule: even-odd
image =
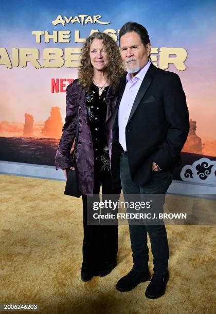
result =
[{"label": "golden yellow carpet under the couple's feet", "polygon": [[[132,268],[127,225],[119,226],[117,267],[83,283],[81,198],[63,195],[61,181],[0,179],[0,303],[37,303],[41,313],[215,313],[213,225],[167,226],[170,280],[163,297],[149,300],[148,282],[115,289]],[[152,256],[149,265],[152,273]]]}]

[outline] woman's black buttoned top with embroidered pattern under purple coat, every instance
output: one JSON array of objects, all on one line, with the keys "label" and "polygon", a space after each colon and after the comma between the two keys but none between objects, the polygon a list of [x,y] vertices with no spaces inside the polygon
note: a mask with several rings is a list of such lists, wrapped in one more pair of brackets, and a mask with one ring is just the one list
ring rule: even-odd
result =
[{"label": "woman's black buttoned top with embroidered pattern under purple coat", "polygon": [[109,86],[99,96],[98,87],[92,83],[86,94],[88,120],[92,134],[96,171],[110,171],[109,147],[105,133],[107,105],[105,97]]}]

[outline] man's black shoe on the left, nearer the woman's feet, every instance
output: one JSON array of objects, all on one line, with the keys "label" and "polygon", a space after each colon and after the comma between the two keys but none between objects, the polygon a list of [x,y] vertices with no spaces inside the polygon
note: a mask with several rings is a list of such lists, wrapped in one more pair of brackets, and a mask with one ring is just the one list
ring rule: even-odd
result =
[{"label": "man's black shoe on the left, nearer the woman's feet", "polygon": [[116,289],[120,292],[130,291],[139,283],[150,279],[149,269],[146,271],[136,271],[132,269],[126,276],[122,277],[116,285]]}]

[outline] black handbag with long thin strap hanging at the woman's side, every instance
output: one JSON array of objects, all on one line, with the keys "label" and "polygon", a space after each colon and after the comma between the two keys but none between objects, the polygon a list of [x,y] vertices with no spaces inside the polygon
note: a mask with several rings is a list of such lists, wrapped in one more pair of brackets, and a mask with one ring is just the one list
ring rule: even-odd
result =
[{"label": "black handbag with long thin strap hanging at the woman's side", "polygon": [[77,163],[76,163],[76,152],[77,152],[77,143],[78,143],[78,131],[79,131],[79,116],[78,116],[78,105],[77,105],[77,128],[76,128],[76,138],[74,150],[69,154],[69,159],[71,162],[71,167],[74,167],[75,170],[67,168],[67,181],[64,190],[64,194],[70,195],[76,198],[81,197],[81,192],[79,188],[78,175],[77,175]]}]

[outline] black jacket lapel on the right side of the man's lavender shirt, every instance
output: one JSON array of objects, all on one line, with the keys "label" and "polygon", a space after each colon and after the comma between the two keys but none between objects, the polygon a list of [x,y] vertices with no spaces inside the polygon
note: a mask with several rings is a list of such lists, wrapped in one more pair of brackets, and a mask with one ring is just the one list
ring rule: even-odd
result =
[{"label": "black jacket lapel on the right side of the man's lavender shirt", "polygon": [[145,95],[145,93],[147,92],[147,89],[149,88],[149,85],[152,83],[152,80],[154,78],[154,73],[156,71],[156,67],[151,63],[145,77],[143,78],[143,81],[140,85],[140,88],[138,90],[138,93],[136,95],[136,98],[134,100],[134,103],[133,103],[133,106],[132,106],[132,109],[131,109],[131,113],[130,113],[130,116],[129,116],[129,119],[128,119],[128,123],[129,121],[131,120],[134,112],[136,111],[139,103],[141,102],[143,96]]}]

